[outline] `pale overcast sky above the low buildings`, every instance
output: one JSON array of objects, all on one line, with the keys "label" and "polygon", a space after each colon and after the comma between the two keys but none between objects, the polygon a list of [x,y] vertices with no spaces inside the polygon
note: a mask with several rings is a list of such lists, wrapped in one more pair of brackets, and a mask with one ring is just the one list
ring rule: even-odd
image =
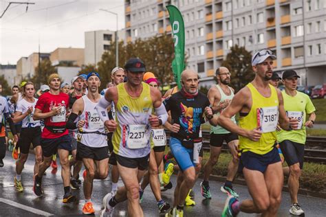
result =
[{"label": "pale overcast sky above the low buildings", "polygon": [[[0,0],[0,14],[10,1]],[[124,28],[124,0],[19,0],[34,5],[10,5],[0,19],[0,64],[17,64],[33,52],[53,52],[57,47],[85,47],[84,32]]]}]

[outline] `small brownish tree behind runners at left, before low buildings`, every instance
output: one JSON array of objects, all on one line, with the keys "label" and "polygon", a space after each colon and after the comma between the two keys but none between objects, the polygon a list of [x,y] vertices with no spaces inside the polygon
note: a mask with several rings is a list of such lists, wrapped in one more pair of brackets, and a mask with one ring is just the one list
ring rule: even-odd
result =
[{"label": "small brownish tree behind runners at left, before low buildings", "polygon": [[40,65],[40,70],[39,66],[37,66],[35,68],[34,76],[31,79],[35,85],[36,90],[39,89],[42,84],[47,84],[47,78],[49,78],[52,73],[56,73],[56,68],[52,66],[52,63],[49,59],[43,59]]}]

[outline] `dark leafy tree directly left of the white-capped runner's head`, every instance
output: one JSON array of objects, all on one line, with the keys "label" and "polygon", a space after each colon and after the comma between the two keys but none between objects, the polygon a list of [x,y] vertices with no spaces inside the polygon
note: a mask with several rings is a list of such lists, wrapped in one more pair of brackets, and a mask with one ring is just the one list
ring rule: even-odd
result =
[{"label": "dark leafy tree directly left of the white-capped runner's head", "polygon": [[235,45],[231,47],[231,52],[221,64],[222,67],[228,68],[232,73],[231,86],[235,88],[235,91],[239,91],[254,79],[251,57],[252,55],[245,47]]}]

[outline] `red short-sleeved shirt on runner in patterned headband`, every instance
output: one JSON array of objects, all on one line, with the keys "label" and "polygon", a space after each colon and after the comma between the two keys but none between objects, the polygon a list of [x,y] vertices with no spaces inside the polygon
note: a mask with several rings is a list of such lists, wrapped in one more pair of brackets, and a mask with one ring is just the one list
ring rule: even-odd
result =
[{"label": "red short-sleeved shirt on runner in patterned headband", "polygon": [[47,117],[44,119],[45,128],[43,129],[41,137],[44,139],[55,139],[68,134],[68,130],[64,133],[52,133],[47,130],[46,126],[65,126],[66,124],[66,114],[69,108],[69,96],[66,93],[59,93],[58,95],[53,95],[50,92],[43,93],[39,100],[36,102],[35,109],[40,109],[42,113],[47,113],[51,111],[53,106],[63,106],[61,112],[58,115],[52,117]]}]

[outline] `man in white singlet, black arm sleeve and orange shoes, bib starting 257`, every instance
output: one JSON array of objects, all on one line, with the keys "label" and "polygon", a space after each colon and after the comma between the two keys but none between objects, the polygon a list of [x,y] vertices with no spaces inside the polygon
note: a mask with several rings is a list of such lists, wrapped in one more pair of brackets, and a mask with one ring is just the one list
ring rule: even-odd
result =
[{"label": "man in white singlet, black arm sleeve and orange shoes, bib starting 257", "polygon": [[[107,133],[105,126],[95,109],[96,104],[102,96],[98,93],[100,87],[100,76],[96,72],[87,75],[88,93],[76,100],[69,115],[67,128],[78,127],[78,149],[77,155],[83,159],[87,175],[84,179],[83,189],[85,205],[83,214],[95,214],[91,203],[91,192],[94,179],[105,179],[109,172],[109,155],[107,147]],[[78,123],[74,123],[78,118]]]}]

